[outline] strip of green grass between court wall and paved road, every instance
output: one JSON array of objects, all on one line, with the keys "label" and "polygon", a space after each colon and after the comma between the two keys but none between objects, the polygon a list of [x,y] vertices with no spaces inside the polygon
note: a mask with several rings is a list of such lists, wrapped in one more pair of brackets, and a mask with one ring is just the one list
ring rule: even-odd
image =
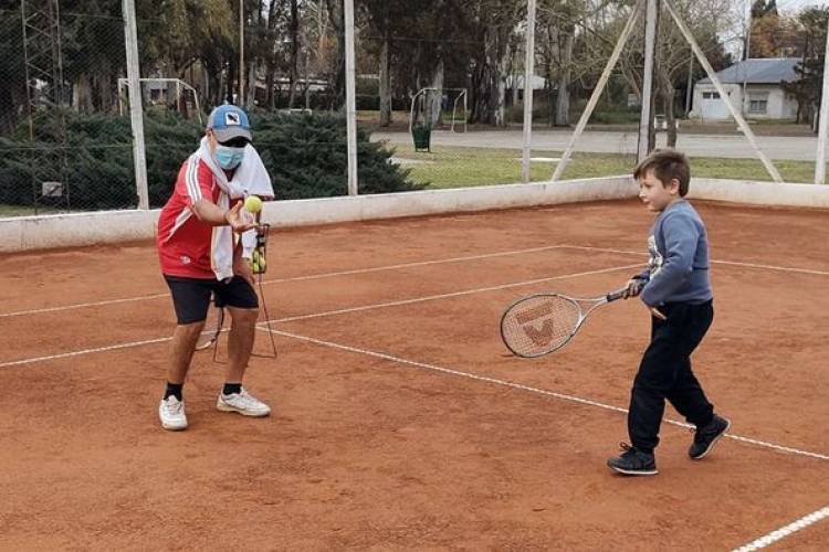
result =
[{"label": "strip of green grass between court wall and paved road", "polygon": [[[414,152],[411,146],[396,146],[395,157],[421,161],[406,164],[410,178],[431,189],[510,184],[521,181],[521,150],[437,146],[430,153]],[[560,157],[560,151],[534,150],[533,157]],[[787,182],[812,182],[815,163],[810,161],[774,162]],[[609,177],[630,173],[633,156],[621,153],[575,153],[563,179]],[[549,180],[555,162],[531,163],[533,182]],[[692,158],[691,173],[701,178],[772,181],[763,163],[754,159]]]}]

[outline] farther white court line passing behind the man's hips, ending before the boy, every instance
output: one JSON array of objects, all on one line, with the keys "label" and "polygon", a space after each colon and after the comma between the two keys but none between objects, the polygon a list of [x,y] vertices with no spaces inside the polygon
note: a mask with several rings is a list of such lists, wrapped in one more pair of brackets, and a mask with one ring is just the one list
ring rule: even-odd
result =
[{"label": "farther white court line passing behind the man's hips, ending before the boy", "polygon": [[[412,268],[416,266],[428,266],[428,265],[440,265],[444,263],[463,263],[465,261],[478,261],[482,258],[492,258],[492,257],[502,257],[502,256],[510,256],[510,255],[523,255],[525,253],[537,253],[542,251],[549,251],[549,250],[560,250],[564,247],[568,247],[566,245],[546,245],[543,247],[532,247],[529,250],[512,250],[512,251],[500,251],[495,253],[484,253],[481,255],[469,255],[464,257],[450,257],[450,258],[439,258],[436,261],[418,261],[414,263],[402,263],[402,264],[396,264],[396,265],[385,265],[385,266],[374,266],[369,268],[354,268],[350,270],[337,270],[332,273],[321,273],[321,274],[308,274],[306,276],[294,276],[292,278],[276,278],[276,279],[269,279],[264,280],[262,284],[270,285],[270,284],[284,284],[288,282],[305,282],[305,280],[312,280],[312,279],[321,279],[321,278],[332,278],[336,276],[349,276],[355,274],[368,274],[368,273],[376,273],[376,272],[382,272],[382,270],[397,270],[399,268]],[[165,297],[169,297],[170,294],[154,294],[154,295],[141,295],[137,297],[126,297],[122,299],[107,299],[103,301],[93,301],[93,302],[77,302],[73,305],[63,305],[59,307],[46,307],[46,308],[40,308],[40,309],[28,309],[28,310],[15,310],[12,312],[0,312],[0,318],[10,318],[14,316],[24,316],[24,315],[40,315],[43,312],[55,312],[61,310],[73,310],[73,309],[81,309],[81,308],[88,308],[88,307],[101,307],[105,305],[117,305],[119,302],[132,302],[132,301],[143,301],[143,300],[150,300],[150,299],[161,299]]]}]

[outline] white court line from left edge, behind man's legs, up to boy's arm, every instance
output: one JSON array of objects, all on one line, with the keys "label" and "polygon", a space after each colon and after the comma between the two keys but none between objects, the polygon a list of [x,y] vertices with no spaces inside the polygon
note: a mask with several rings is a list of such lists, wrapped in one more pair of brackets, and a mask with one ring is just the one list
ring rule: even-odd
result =
[{"label": "white court line from left edge, behind man's legs, up to boy's arm", "polygon": [[[617,267],[612,267],[612,268],[602,268],[602,269],[599,269],[599,270],[589,270],[589,272],[583,272],[583,273],[563,274],[560,276],[550,276],[550,277],[547,277],[547,278],[531,279],[531,280],[525,280],[525,282],[515,282],[515,283],[512,283],[512,284],[502,284],[500,286],[491,286],[491,287],[481,287],[481,288],[474,288],[474,289],[465,289],[465,290],[462,290],[462,291],[454,291],[454,293],[451,293],[451,294],[432,295],[432,296],[426,296],[426,297],[416,297],[413,299],[403,299],[403,300],[399,300],[399,301],[377,302],[377,304],[372,304],[372,305],[363,305],[363,306],[359,306],[359,307],[351,307],[351,308],[339,309],[339,310],[328,310],[328,311],[325,311],[325,312],[315,312],[315,314],[311,314],[311,315],[301,315],[301,316],[294,316],[294,317],[285,317],[285,318],[279,318],[279,319],[275,319],[275,320],[270,320],[270,323],[288,322],[288,321],[293,321],[293,320],[304,320],[304,319],[307,319],[307,318],[319,318],[319,317],[324,317],[324,316],[342,315],[342,314],[345,314],[345,312],[357,312],[357,311],[363,311],[363,310],[371,310],[371,309],[376,309],[376,308],[385,308],[385,307],[391,307],[391,306],[397,306],[397,305],[410,305],[410,304],[413,304],[413,302],[429,301],[429,300],[434,300],[434,299],[443,299],[443,298],[453,297],[453,296],[471,295],[471,294],[491,291],[491,290],[495,290],[495,289],[506,289],[506,288],[510,288],[510,287],[527,286],[527,285],[531,285],[531,284],[537,284],[539,282],[548,282],[548,280],[566,279],[566,278],[578,278],[578,277],[581,277],[581,276],[588,276],[588,275],[592,275],[592,274],[604,274],[604,273],[609,273],[609,272],[615,272],[615,270],[622,270],[622,269],[628,270],[628,269],[630,269],[631,266],[639,266],[639,265],[638,264],[637,265],[626,265],[626,266],[617,266]],[[260,326],[261,325],[266,325],[266,323],[269,323],[269,321],[260,322]],[[96,353],[96,352],[105,352],[105,351],[112,351],[112,350],[116,350],[116,349],[128,349],[128,348],[132,348],[132,347],[140,347],[140,346],[145,346],[145,344],[153,344],[153,343],[160,343],[160,342],[164,342],[164,341],[170,341],[171,339],[172,339],[171,337],[168,337],[168,338],[155,338],[155,339],[149,339],[149,340],[146,340],[146,341],[133,341],[130,343],[120,343],[120,344],[115,344],[115,346],[111,346],[111,347],[101,347],[101,348],[96,348],[96,349],[84,349],[84,350],[81,350],[81,351],[64,352],[64,353],[59,353],[59,354],[52,354],[52,355],[49,355],[49,357],[36,357],[36,358],[33,358],[33,359],[21,359],[21,360],[15,360],[15,361],[11,361],[11,362],[0,362],[0,368],[18,367],[18,365],[21,365],[21,364],[32,364],[34,362],[44,362],[44,361],[48,361],[48,360],[63,359],[63,358],[66,358],[66,357],[77,357],[77,355],[81,355],[81,354],[90,354],[90,353]]]}]

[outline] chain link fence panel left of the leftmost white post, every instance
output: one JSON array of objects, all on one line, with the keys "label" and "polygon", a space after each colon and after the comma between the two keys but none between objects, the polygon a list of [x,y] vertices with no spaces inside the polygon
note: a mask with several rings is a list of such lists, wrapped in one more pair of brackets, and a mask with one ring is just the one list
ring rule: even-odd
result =
[{"label": "chain link fence panel left of the leftmost white post", "polygon": [[0,10],[0,216],[135,208],[132,132],[117,116],[119,10],[9,3]]}]

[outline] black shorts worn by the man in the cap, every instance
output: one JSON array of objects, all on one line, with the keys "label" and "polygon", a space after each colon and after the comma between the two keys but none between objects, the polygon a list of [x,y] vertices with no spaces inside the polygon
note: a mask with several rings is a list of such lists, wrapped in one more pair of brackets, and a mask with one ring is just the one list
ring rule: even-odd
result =
[{"label": "black shorts worn by the man in the cap", "polygon": [[251,285],[240,276],[228,282],[218,279],[186,278],[164,275],[172,295],[178,323],[200,322],[207,319],[210,296],[216,297],[217,307],[240,309],[259,308],[259,297]]}]

